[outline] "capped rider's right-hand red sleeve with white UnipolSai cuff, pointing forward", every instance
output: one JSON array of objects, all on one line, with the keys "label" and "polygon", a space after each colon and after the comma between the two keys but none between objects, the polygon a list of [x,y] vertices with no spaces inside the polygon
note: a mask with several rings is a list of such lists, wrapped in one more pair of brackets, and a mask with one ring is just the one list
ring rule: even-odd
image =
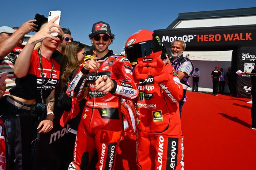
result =
[{"label": "capped rider's right-hand red sleeve with white UnipolSai cuff, pointing forward", "polygon": [[[135,99],[139,91],[136,88],[132,76],[132,66],[127,58],[121,58],[112,67],[111,77],[114,88],[110,91],[111,94],[121,96],[125,99]],[[114,78],[114,79],[113,79]]]}]

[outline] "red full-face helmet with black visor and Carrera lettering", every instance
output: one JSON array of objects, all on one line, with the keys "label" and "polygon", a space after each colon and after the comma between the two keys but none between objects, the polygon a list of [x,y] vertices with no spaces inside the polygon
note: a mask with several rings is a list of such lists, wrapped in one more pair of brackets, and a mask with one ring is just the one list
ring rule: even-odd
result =
[{"label": "red full-face helmet with black visor and Carrera lettering", "polygon": [[132,34],[125,44],[125,55],[134,67],[143,58],[161,57],[162,43],[157,34],[140,30]]}]

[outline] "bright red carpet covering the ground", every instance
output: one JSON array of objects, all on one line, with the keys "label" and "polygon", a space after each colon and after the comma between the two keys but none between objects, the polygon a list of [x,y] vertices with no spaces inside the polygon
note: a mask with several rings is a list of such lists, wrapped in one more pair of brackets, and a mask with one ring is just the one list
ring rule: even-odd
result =
[{"label": "bright red carpet covering the ground", "polygon": [[[185,170],[256,170],[249,99],[198,92],[187,96],[181,118]],[[120,143],[116,170],[136,169],[135,148],[135,137]]]}]

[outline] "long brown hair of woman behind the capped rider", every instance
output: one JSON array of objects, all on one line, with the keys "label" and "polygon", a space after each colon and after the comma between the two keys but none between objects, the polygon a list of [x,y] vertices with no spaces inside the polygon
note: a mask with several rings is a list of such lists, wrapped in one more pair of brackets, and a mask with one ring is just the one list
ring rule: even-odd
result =
[{"label": "long brown hair of woman behind the capped rider", "polygon": [[72,41],[66,46],[61,63],[61,80],[67,81],[68,75],[78,66],[77,53],[82,49],[84,49],[84,45],[77,41]]}]

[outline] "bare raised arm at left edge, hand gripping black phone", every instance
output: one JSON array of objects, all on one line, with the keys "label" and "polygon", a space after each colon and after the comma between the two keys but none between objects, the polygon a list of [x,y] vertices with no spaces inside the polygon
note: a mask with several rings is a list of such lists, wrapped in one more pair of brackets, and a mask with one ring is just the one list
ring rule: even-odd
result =
[{"label": "bare raised arm at left edge, hand gripping black phone", "polygon": [[24,37],[25,34],[28,34],[31,31],[34,32],[34,30],[36,30],[35,27],[37,25],[33,23],[35,21],[36,20],[33,19],[23,23],[22,26],[20,26],[20,28],[17,31],[15,31],[9,38],[0,42],[0,60],[3,59],[15,48],[20,39],[22,39],[22,37]]}]

